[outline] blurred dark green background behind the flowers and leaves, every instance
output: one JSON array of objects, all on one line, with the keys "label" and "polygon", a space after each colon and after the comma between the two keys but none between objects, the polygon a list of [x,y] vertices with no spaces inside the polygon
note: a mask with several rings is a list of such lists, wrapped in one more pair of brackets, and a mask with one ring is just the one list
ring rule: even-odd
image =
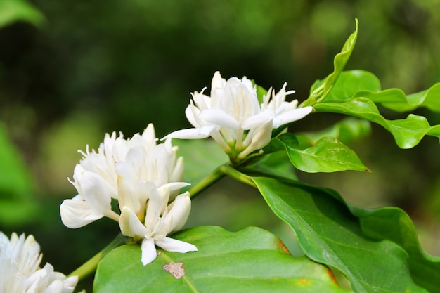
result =
[{"label": "blurred dark green background behind the flowers and leaves", "polygon": [[[436,0],[0,0],[0,230],[34,234],[44,262],[70,273],[119,229],[108,219],[79,230],[60,222],[60,202],[76,195],[66,178],[78,149],[96,148],[105,132],[131,136],[150,122],[158,137],[188,127],[190,92],[209,88],[216,70],[266,89],[287,82],[302,101],[332,72],[354,18],[359,36],[347,70],[368,70],[383,89],[406,93],[440,81]],[[438,114],[418,114],[440,124]],[[292,131],[323,129],[340,118],[309,115]],[[373,173],[299,178],[362,207],[405,209],[423,247],[440,255],[438,141],[428,137],[400,150],[373,126],[351,148]],[[188,226],[253,225],[287,235],[262,198],[241,188],[231,181],[200,195]]]}]

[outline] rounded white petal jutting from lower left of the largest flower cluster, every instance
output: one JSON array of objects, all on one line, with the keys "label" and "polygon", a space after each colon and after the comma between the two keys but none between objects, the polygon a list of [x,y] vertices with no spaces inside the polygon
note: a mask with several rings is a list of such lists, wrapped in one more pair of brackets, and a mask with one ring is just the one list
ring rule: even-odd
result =
[{"label": "rounded white petal jutting from lower left of the largest flower cluster", "polygon": [[73,229],[86,226],[103,217],[103,214],[97,214],[82,200],[64,200],[60,205],[60,214],[63,224]]}]

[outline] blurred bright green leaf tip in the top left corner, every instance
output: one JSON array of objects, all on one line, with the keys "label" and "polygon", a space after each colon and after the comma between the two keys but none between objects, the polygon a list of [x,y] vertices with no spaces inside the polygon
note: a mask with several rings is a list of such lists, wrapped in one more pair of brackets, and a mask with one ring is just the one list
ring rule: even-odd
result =
[{"label": "blurred bright green leaf tip in the top left corner", "polygon": [[44,15],[32,4],[24,0],[0,1],[0,27],[16,21],[30,22],[32,25],[41,25]]}]

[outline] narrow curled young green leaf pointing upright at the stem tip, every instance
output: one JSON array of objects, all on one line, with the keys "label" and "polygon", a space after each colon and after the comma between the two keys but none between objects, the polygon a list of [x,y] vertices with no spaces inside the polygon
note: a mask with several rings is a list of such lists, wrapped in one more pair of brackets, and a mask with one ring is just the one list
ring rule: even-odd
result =
[{"label": "narrow curled young green leaf pointing upright at the stem tip", "polygon": [[347,61],[351,56],[351,52],[353,52],[354,45],[356,44],[356,39],[358,37],[358,25],[359,22],[356,19],[356,30],[350,35],[347,41],[345,41],[341,52],[337,53],[333,59],[333,72],[330,73],[323,81],[315,82],[313,91],[310,93],[309,98],[302,103],[302,107],[314,105],[315,103],[325,99],[328,93],[330,93],[332,87],[335,85],[339,77],[339,74],[341,74],[342,70],[344,70]]}]

